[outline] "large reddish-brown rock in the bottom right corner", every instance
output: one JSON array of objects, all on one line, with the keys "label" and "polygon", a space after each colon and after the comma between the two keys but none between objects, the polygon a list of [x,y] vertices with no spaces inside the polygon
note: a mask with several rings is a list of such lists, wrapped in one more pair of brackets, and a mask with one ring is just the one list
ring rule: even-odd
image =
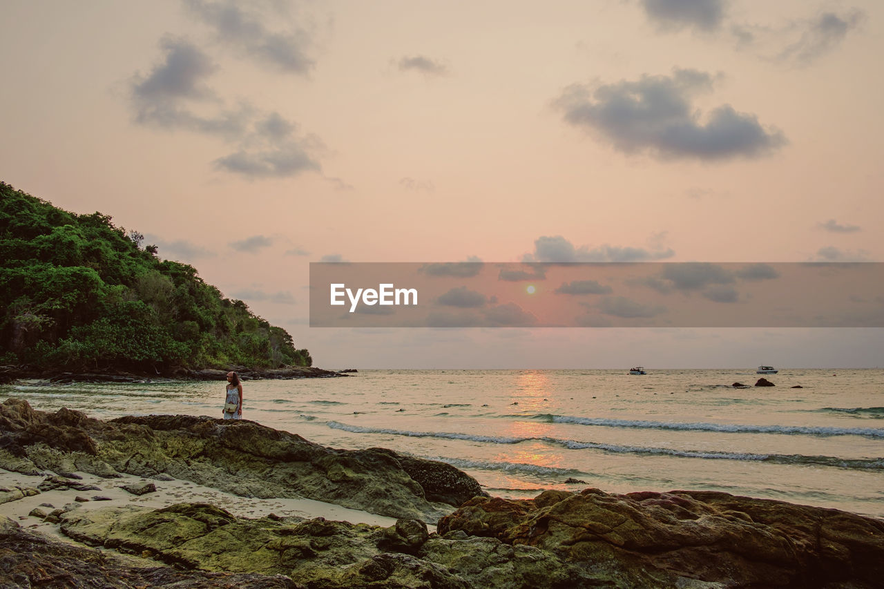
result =
[{"label": "large reddish-brown rock in the bottom right corner", "polygon": [[454,530],[542,548],[566,562],[606,562],[635,586],[681,586],[682,578],[727,587],[873,587],[884,562],[880,520],[728,493],[586,489],[529,501],[476,498],[439,521],[440,534]]}]

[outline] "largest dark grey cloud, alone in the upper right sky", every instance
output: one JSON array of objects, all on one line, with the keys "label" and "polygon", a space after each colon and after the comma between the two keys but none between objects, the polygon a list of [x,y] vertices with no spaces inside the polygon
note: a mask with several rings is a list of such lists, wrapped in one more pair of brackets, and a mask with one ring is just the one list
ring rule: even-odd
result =
[{"label": "largest dark grey cloud, alone in the upper right sky", "polygon": [[702,117],[691,98],[713,88],[713,76],[675,69],[591,88],[572,84],[553,103],[564,120],[597,134],[623,153],[661,159],[725,160],[767,155],[786,144],[750,113],[721,105]]}]

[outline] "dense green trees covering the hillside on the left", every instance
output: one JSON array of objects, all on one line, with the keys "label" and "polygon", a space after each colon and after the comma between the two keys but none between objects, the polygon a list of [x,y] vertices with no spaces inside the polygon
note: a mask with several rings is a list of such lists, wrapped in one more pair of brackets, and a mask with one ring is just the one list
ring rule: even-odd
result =
[{"label": "dense green trees covering the hillside on the left", "polygon": [[102,213],[0,182],[0,361],[56,370],[309,366],[286,330]]}]

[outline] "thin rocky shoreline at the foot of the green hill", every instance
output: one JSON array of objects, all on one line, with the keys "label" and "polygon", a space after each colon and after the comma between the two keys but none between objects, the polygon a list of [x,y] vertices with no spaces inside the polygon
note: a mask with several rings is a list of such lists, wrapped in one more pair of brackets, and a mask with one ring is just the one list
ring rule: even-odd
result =
[{"label": "thin rocky shoreline at the foot of the green hill", "polygon": [[[346,377],[347,371],[326,371],[312,366],[284,366],[282,368],[246,368],[232,366],[232,371],[237,371],[243,380],[257,379],[328,379],[334,377]],[[216,368],[204,368],[190,370],[186,368],[174,369],[168,372],[156,371],[154,373],[135,373],[126,371],[82,371],[82,372],[57,372],[47,374],[45,371],[35,371],[27,366],[0,366],[0,385],[14,383],[17,380],[37,380],[48,384],[66,385],[73,382],[152,382],[156,380],[220,380],[224,381],[227,370]]]}]

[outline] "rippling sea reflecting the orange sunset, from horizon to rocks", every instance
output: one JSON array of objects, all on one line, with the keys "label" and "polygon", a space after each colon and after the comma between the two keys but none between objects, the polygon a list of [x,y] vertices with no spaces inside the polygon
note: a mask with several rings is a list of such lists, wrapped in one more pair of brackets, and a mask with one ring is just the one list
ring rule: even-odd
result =
[{"label": "rippling sea reflecting the orange sunset, from horizon to rocks", "polygon": [[[884,371],[374,370],[244,381],[243,417],[453,464],[492,495],[711,490],[884,518]],[[735,388],[735,382],[750,385]],[[800,386],[800,388],[797,388]],[[0,386],[35,409],[221,417],[225,382]]]}]

